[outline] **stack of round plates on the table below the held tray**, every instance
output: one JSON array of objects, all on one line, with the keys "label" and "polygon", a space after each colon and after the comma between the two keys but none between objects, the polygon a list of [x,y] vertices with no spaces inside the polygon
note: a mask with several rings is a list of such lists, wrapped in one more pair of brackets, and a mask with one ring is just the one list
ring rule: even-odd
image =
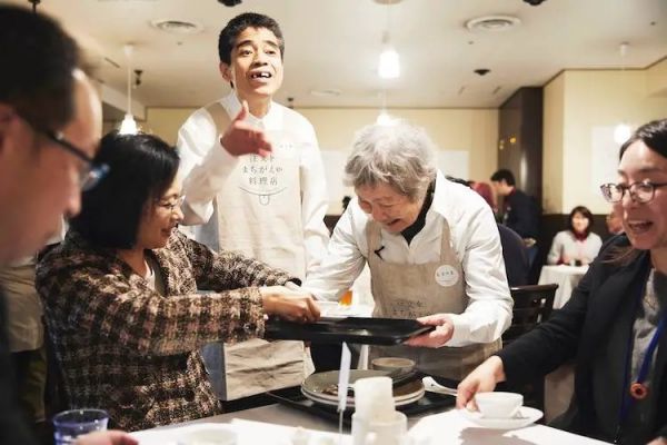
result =
[{"label": "stack of round plates on the table below the held tray", "polygon": [[[350,385],[359,378],[366,377],[378,377],[386,376],[388,373],[385,370],[365,370],[365,369],[351,369],[350,370]],[[327,388],[336,387],[338,385],[338,370],[329,370],[327,373],[312,374],[301,385],[301,393],[311,399],[323,405],[338,405],[338,396],[335,394],[328,394],[325,392]],[[351,392],[349,394],[352,394]],[[424,384],[420,379],[406,382],[394,388],[394,402],[396,406],[409,405],[419,400],[424,396]],[[348,396],[347,406],[355,406],[355,397]]]}]

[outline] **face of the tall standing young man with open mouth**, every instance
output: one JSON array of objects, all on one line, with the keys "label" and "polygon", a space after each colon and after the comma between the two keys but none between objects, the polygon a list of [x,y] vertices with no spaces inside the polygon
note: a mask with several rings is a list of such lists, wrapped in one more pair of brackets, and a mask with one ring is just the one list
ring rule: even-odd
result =
[{"label": "face of the tall standing young man with open mouth", "polygon": [[246,28],[231,50],[231,63],[220,63],[240,100],[270,99],[282,85],[278,38],[267,28]]}]

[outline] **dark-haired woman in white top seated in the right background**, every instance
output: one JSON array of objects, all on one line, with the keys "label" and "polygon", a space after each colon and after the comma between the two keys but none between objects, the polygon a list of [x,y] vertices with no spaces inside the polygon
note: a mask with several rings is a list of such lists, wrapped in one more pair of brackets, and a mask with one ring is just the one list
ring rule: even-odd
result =
[{"label": "dark-haired woman in white top seated in the right background", "polygon": [[567,230],[559,231],[554,237],[547,264],[590,264],[603,247],[601,238],[590,231],[593,214],[586,207],[577,206],[570,211],[567,226]]}]

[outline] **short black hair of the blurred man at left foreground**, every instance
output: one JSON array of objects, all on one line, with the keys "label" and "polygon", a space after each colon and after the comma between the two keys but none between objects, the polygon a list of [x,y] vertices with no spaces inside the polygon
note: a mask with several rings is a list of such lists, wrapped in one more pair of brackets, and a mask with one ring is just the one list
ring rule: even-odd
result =
[{"label": "short black hair of the blurred man at left foreground", "polygon": [[0,7],[0,102],[41,129],[59,130],[74,108],[79,49],[54,20]]}]

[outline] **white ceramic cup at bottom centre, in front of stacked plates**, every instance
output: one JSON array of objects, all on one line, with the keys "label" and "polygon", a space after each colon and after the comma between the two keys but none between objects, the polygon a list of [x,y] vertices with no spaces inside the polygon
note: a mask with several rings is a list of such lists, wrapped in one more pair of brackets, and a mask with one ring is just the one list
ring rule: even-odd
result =
[{"label": "white ceramic cup at bottom centre, in front of stacked plates", "polygon": [[352,414],[352,445],[406,445],[408,417],[397,411],[388,422],[377,422]]}]

